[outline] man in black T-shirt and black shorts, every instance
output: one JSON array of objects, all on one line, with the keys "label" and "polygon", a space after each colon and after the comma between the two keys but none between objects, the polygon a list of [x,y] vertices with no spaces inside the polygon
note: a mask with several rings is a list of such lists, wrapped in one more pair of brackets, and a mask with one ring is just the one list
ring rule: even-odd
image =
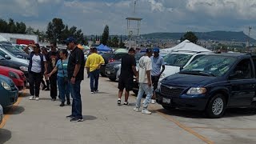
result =
[{"label": "man in black T-shirt and black shorts", "polygon": [[118,82],[118,105],[121,105],[122,92],[126,88],[124,105],[128,105],[129,92],[133,89],[134,75],[137,77],[135,50],[130,48],[128,54],[122,57],[121,74]]}]

